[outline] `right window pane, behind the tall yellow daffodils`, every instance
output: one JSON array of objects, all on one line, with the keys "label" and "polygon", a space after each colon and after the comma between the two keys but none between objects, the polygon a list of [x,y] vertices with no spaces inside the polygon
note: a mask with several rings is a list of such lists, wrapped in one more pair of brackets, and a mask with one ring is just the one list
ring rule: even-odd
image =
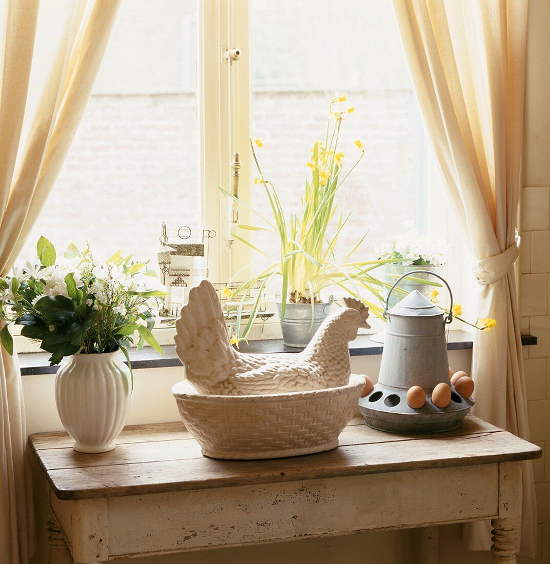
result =
[{"label": "right window pane, behind the tall yellow daffodils", "polygon": [[[340,189],[342,209],[353,211],[340,248],[369,230],[359,254],[376,258],[402,222],[415,218],[423,231],[424,134],[391,2],[252,0],[250,10],[252,134],[264,140],[258,158],[280,199],[300,209],[310,148],[324,142],[329,100],[345,93],[341,109],[355,111],[341,127],[344,174],[359,156],[355,140],[366,155]],[[269,214],[261,185],[253,206]]]}]

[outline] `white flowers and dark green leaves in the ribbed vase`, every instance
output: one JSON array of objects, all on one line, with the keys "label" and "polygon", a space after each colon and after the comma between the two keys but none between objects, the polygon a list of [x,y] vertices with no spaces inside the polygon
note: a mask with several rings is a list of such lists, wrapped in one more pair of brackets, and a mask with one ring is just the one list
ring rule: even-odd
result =
[{"label": "white flowers and dark green leaves in the ribbed vase", "polygon": [[37,243],[37,261],[14,268],[0,277],[0,331],[3,347],[13,354],[9,325],[23,325],[21,335],[40,342],[51,353],[50,364],[64,356],[102,354],[147,342],[162,349],[151,329],[166,296],[156,273],[146,262],[117,251],[105,262],[95,260],[89,248],[71,244],[58,259],[45,237]]}]

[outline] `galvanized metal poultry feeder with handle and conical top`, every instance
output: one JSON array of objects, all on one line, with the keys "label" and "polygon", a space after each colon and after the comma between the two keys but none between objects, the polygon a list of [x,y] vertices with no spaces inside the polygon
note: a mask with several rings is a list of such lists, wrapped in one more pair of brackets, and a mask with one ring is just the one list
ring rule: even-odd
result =
[{"label": "galvanized metal poultry feeder with handle and conical top", "polygon": [[[391,287],[384,316],[386,340],[382,352],[380,376],[370,394],[359,400],[359,411],[367,425],[391,433],[441,433],[460,427],[474,401],[464,398],[451,385],[447,356],[446,325],[452,321],[452,292],[446,280],[430,272],[445,283],[450,295],[447,313],[413,290],[391,310],[390,295],[399,282],[417,270],[399,277]],[[451,401],[445,408],[432,402],[435,386],[445,382],[451,388]],[[426,403],[419,409],[407,404],[407,391],[421,386]]]}]

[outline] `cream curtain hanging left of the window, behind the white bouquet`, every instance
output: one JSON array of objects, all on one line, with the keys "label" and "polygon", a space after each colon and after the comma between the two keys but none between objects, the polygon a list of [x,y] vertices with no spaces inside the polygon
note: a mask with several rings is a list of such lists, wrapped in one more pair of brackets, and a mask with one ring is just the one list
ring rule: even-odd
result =
[{"label": "cream curtain hanging left of the window, behind the white bouquet", "polygon": [[[28,115],[28,100],[34,94],[29,85],[43,12],[39,0],[8,0],[0,7],[1,275],[14,264],[67,155],[120,0],[49,2],[45,7],[56,10],[58,19],[66,7],[67,20],[33,116]],[[16,354],[9,356],[1,347],[0,356],[0,547],[2,561],[16,564],[27,562],[34,551],[34,515],[19,364]]]}]

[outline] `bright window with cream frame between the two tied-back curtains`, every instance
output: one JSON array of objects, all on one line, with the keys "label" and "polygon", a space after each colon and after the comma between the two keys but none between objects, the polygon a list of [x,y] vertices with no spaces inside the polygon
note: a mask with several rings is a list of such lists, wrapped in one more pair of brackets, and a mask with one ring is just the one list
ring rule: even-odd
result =
[{"label": "bright window with cream frame between the two tied-back curtains", "polygon": [[[230,53],[237,47],[239,56]],[[265,140],[264,171],[297,206],[309,149],[340,93],[355,108],[342,130],[346,166],[355,139],[367,148],[340,192],[353,211],[341,244],[369,230],[362,252],[376,258],[376,246],[411,218],[419,231],[444,231],[446,275],[460,296],[464,253],[433,192],[437,166],[387,0],[122,0],[85,116],[22,256],[45,235],[58,247],[89,241],[102,254],[120,248],[155,262],[165,222],[215,232],[209,278],[226,283],[254,258],[231,241],[234,210],[217,188],[231,186],[234,153],[241,200],[267,213],[250,182],[254,135]],[[246,209],[239,214],[250,223]]]}]

